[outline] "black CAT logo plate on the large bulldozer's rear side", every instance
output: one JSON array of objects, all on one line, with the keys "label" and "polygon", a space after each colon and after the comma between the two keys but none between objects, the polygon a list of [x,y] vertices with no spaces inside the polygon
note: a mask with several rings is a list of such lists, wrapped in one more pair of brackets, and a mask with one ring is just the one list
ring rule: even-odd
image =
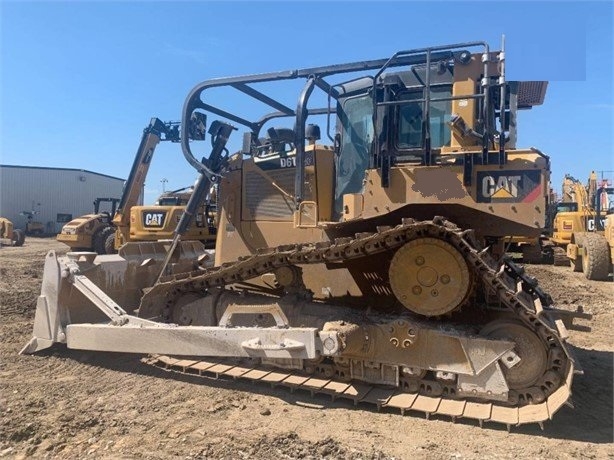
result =
[{"label": "black CAT logo plate on the large bulldozer's rear side", "polygon": [[478,171],[478,203],[530,203],[542,195],[541,171]]}]

